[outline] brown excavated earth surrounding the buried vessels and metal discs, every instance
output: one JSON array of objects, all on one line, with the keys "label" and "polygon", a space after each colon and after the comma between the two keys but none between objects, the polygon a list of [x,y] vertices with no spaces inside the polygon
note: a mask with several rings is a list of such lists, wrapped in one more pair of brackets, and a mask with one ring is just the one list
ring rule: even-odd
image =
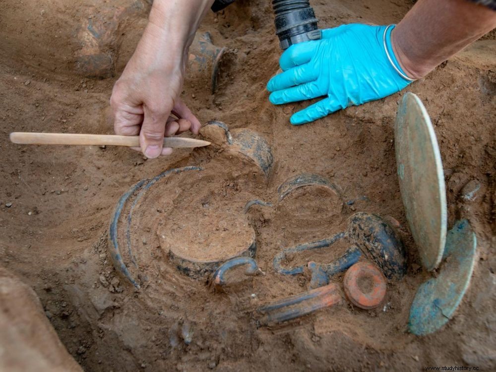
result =
[{"label": "brown excavated earth surrounding the buried vessels and metal discs", "polygon": [[[313,2],[322,27],[394,23],[412,4]],[[433,120],[449,225],[468,218],[479,255],[455,317],[433,335],[417,337],[407,332],[408,311],[416,289],[432,274],[420,266],[396,179],[393,123],[402,93],[312,124],[290,125],[290,114],[308,103],[274,107],[267,100],[265,84],[277,71],[280,56],[270,1],[240,0],[206,17],[200,31],[210,32],[216,46],[227,48],[217,90],[212,95],[205,84],[186,78],[183,93],[200,121],[217,119],[230,128],[249,128],[269,141],[275,163],[267,180],[250,177],[246,159],[215,147],[180,149],[151,161],[125,148],[28,147],[8,141],[11,131],[112,133],[107,119],[111,89],[146,24],[148,7],[139,0],[0,1],[0,264],[34,289],[76,361],[87,371],[496,369],[495,34],[405,90],[419,95]],[[89,22],[105,31],[99,40],[85,31]],[[87,57],[95,55],[99,60]],[[95,61],[101,68],[92,71],[100,77],[85,77]],[[194,197],[185,209],[179,204],[173,208],[175,221],[158,212],[147,217],[157,225],[135,237],[136,247],[145,247],[139,254],[150,262],[138,268],[146,269],[147,277],[137,291],[111,264],[111,215],[129,186],[184,165],[208,165],[212,183],[202,184],[206,188],[201,194],[175,188],[184,192],[178,202]],[[148,244],[158,241],[156,232],[170,224],[184,224],[190,234],[198,227],[202,234],[215,231],[222,215],[208,224],[208,215],[195,213],[210,194],[212,205],[233,208],[230,219],[222,222],[231,224],[242,218],[235,208],[242,208],[248,196],[275,202],[277,186],[305,172],[331,180],[340,199],[326,189],[302,188],[276,208],[250,209],[256,260],[265,275],[215,293],[204,281],[179,273],[159,243]],[[462,202],[461,189],[474,179],[481,183],[476,199]],[[223,188],[225,194],[216,194]],[[358,211],[398,220],[408,251],[408,274],[388,284],[384,306],[359,310],[343,301],[286,325],[258,328],[256,307],[308,286],[306,275],[277,274],[274,255],[344,231],[346,218]],[[217,243],[223,239],[215,237]],[[347,247],[341,242],[335,250],[294,257],[288,264],[328,262]],[[341,287],[339,277],[335,282]]]}]

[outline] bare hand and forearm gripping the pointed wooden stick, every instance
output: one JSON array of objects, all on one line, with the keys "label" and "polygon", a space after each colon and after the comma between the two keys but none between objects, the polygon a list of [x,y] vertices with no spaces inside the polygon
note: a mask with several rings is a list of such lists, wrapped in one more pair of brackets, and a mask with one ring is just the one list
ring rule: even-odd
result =
[{"label": "bare hand and forearm gripping the pointed wooden stick", "polygon": [[[137,135],[148,158],[169,155],[163,137],[200,123],[180,99],[187,51],[213,0],[155,0],[148,24],[110,99],[117,134]],[[177,117],[174,118],[171,114]]]}]

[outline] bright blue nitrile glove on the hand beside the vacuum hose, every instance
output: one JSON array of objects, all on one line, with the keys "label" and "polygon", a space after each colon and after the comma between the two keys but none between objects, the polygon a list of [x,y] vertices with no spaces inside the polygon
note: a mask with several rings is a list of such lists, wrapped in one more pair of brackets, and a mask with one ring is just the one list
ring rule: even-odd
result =
[{"label": "bright blue nitrile glove on the hand beside the vacuum hose", "polygon": [[[281,105],[327,96],[295,113],[291,124],[298,125],[400,91],[413,80],[407,80],[394,56],[393,28],[342,25],[322,30],[321,40],[292,45],[279,60],[283,72],[267,83],[270,102]],[[391,61],[384,50],[384,32]]]}]

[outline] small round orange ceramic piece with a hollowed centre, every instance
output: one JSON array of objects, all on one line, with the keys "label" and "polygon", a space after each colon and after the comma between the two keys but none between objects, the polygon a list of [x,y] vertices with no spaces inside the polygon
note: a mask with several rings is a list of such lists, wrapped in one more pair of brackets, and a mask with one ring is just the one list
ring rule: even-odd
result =
[{"label": "small round orange ceramic piece with a hollowed centre", "polygon": [[361,309],[376,308],[386,295],[384,275],[370,262],[350,267],[344,274],[343,285],[348,300]]}]

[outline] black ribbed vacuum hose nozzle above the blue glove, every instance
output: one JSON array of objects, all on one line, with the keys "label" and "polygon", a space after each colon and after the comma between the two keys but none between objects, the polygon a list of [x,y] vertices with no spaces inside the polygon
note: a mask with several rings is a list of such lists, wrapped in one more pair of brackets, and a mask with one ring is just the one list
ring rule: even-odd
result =
[{"label": "black ribbed vacuum hose nozzle above the blue glove", "polygon": [[321,38],[309,0],[272,0],[276,34],[282,50],[291,45]]}]

